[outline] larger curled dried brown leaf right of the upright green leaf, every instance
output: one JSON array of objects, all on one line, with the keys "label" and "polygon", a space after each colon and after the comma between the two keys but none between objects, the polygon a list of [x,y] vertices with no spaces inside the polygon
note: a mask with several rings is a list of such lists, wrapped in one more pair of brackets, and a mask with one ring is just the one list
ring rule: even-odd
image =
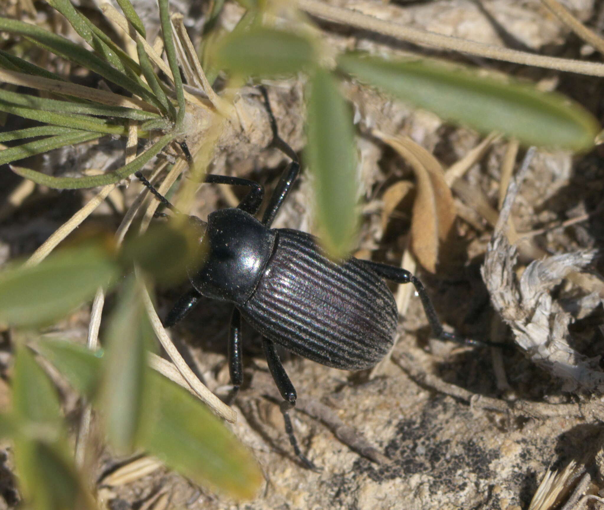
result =
[{"label": "larger curled dried brown leaf right of the upright green leaf", "polygon": [[440,163],[408,137],[390,137],[374,131],[413,167],[417,196],[411,220],[411,249],[422,266],[435,273],[439,247],[448,240],[455,222],[455,204]]}]

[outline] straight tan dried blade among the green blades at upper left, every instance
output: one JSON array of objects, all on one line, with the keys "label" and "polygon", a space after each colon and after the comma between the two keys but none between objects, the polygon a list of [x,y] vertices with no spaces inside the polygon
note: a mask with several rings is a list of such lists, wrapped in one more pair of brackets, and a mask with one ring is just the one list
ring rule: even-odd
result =
[{"label": "straight tan dried blade among the green blades at upper left", "polygon": [[101,103],[101,105],[120,106],[142,111],[155,111],[155,107],[135,97],[126,97],[124,95],[115,94],[114,92],[93,89],[83,85],[76,85],[75,83],[64,82],[62,80],[32,76],[25,73],[16,73],[15,71],[7,71],[5,69],[0,69],[0,82],[52,92],[53,94],[58,95],[83,98],[95,103]]}]

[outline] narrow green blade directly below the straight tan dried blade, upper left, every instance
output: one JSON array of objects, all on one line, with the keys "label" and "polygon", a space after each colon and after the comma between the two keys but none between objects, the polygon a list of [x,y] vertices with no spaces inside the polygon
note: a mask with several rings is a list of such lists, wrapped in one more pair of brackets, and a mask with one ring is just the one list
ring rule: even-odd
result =
[{"label": "narrow green blade directly below the straight tan dried blade, upper left", "polygon": [[103,115],[104,117],[121,117],[132,120],[158,120],[158,114],[126,108],[124,106],[108,106],[99,103],[76,103],[72,101],[60,101],[48,99],[37,95],[19,94],[0,89],[0,99],[14,105],[27,106],[28,108],[44,110],[47,112],[61,112],[64,114]]}]

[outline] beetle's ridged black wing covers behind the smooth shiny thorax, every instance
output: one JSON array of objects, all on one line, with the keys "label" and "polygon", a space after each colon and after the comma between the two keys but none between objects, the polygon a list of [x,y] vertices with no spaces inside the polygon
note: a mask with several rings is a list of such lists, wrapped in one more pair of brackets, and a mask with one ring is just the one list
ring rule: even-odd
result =
[{"label": "beetle's ridged black wing covers behind the smooth shiny thorax", "polygon": [[385,282],[358,259],[339,265],[309,234],[277,232],[274,254],[239,309],[269,340],[330,367],[359,370],[393,344],[396,303]]}]

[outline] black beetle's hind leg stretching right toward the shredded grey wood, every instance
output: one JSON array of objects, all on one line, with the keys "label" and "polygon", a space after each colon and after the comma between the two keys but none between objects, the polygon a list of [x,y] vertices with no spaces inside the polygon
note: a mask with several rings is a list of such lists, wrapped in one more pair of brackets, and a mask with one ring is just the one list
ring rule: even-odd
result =
[{"label": "black beetle's hind leg stretching right toward the shredded grey wood", "polygon": [[432,332],[434,333],[434,336],[439,340],[450,340],[467,345],[506,347],[506,344],[483,340],[474,340],[472,338],[464,338],[460,337],[459,335],[455,335],[454,333],[446,332],[443,329],[443,325],[440,323],[439,316],[436,314],[434,305],[432,305],[432,301],[428,296],[428,292],[426,292],[423,283],[420,282],[420,280],[416,276],[413,276],[413,274],[411,274],[409,271],[404,270],[402,268],[397,268],[395,266],[390,266],[379,262],[373,262],[372,260],[362,260],[361,262],[371,268],[371,270],[375,271],[377,275],[381,276],[382,278],[391,280],[392,282],[396,283],[413,283],[413,286],[416,288],[417,295],[419,295],[419,299],[422,301],[422,306],[424,312],[426,313],[426,317],[428,318],[428,323],[432,328]]}]

